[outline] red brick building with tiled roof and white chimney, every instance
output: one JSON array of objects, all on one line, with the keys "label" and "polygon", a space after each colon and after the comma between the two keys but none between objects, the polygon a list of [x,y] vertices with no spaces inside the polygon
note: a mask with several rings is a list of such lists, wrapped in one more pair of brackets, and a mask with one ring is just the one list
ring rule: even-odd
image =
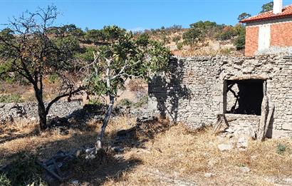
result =
[{"label": "red brick building with tiled roof and white chimney", "polygon": [[283,7],[274,0],[273,11],[244,19],[246,56],[270,53],[292,53],[292,4]]}]

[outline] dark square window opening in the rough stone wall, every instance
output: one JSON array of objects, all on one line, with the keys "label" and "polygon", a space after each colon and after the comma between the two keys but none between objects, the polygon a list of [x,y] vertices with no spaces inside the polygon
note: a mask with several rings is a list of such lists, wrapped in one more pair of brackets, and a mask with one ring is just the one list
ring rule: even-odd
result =
[{"label": "dark square window opening in the rough stone wall", "polygon": [[261,115],[266,81],[226,80],[224,86],[224,113]]}]

